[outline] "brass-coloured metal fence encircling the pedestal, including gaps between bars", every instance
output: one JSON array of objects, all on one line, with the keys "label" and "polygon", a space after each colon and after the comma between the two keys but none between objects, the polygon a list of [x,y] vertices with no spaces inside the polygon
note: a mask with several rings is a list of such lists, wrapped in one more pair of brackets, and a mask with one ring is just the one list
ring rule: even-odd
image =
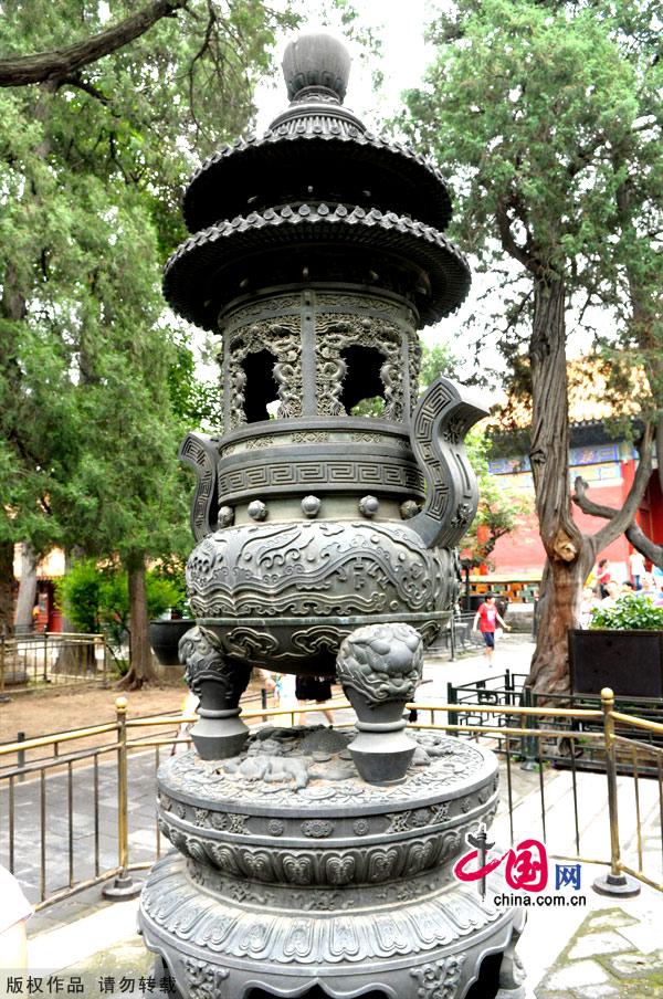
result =
[{"label": "brass-coloured metal fence encircling the pedestal, including gaps between bars", "polygon": [[[349,707],[333,701],[306,712],[332,708],[347,725]],[[506,788],[494,827],[499,839],[516,843],[540,834],[558,859],[604,864],[617,880],[630,874],[663,891],[663,749],[641,740],[643,734],[662,737],[663,725],[615,711],[609,691],[596,709],[436,702],[409,707],[419,712],[412,727],[464,735],[497,753]],[[244,709],[243,717],[280,723],[290,716],[292,723],[299,711],[256,707]],[[481,715],[482,723],[457,724],[456,716],[467,711]],[[112,877],[130,891],[131,873],[160,855],[156,772],[165,754],[190,746],[185,726],[193,721],[183,715],[128,719],[127,701],[119,697],[115,722],[0,746],[0,856],[38,908]],[[538,727],[528,727],[533,723]],[[587,728],[590,723],[593,730]],[[550,767],[546,745],[559,738],[562,724],[585,726],[569,727],[567,737],[571,747],[579,738],[596,744],[604,774],[579,770],[573,753],[564,772]],[[522,769],[524,739],[532,740],[529,772]],[[19,763],[19,754],[44,750],[46,757]],[[597,813],[606,805],[609,818],[599,828]]]}]

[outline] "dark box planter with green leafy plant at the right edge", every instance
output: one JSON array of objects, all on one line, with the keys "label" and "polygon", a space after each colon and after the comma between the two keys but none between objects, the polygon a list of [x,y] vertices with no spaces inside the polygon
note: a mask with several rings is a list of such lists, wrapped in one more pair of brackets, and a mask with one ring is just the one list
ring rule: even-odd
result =
[{"label": "dark box planter with green leafy plant at the right edge", "polygon": [[592,611],[589,629],[569,630],[571,693],[663,697],[663,607],[624,593]]}]

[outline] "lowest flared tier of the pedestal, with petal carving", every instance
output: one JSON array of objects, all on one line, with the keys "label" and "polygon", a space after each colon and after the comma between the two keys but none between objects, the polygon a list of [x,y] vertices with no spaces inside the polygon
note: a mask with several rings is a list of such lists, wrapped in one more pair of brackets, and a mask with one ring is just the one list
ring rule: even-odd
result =
[{"label": "lowest flared tier of the pedestal, with petal carving", "polygon": [[[171,853],[152,869],[139,925],[183,999],[294,999],[314,986],[330,999],[461,999],[482,960],[507,949],[518,918],[490,892],[482,903],[456,882],[410,901],[323,912],[277,908],[266,897],[261,905],[241,892],[221,900]],[[520,999],[518,989],[497,995]]]}]

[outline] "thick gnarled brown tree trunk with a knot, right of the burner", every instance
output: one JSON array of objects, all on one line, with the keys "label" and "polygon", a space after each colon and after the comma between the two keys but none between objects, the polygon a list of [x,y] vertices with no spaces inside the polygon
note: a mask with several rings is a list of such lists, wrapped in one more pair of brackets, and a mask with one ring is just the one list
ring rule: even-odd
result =
[{"label": "thick gnarled brown tree trunk with a knot, right of the burner", "polygon": [[548,556],[527,681],[538,693],[569,691],[567,631],[578,624],[582,585],[594,557],[591,538],[582,536],[570,513],[565,305],[561,278],[535,278],[529,458],[539,532]]}]

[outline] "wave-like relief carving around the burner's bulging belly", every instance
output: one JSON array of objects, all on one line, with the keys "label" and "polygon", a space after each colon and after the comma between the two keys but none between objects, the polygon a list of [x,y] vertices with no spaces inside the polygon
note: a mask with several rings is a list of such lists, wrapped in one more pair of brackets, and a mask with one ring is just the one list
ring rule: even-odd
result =
[{"label": "wave-like relief carving around the burner's bulging belly", "polygon": [[[428,613],[446,606],[450,557],[425,549],[406,525],[242,526],[193,549],[187,586],[201,617]],[[335,650],[338,638],[322,625],[297,629],[292,651]],[[224,649],[238,658],[281,652],[269,630],[244,624],[231,630]]]}]

